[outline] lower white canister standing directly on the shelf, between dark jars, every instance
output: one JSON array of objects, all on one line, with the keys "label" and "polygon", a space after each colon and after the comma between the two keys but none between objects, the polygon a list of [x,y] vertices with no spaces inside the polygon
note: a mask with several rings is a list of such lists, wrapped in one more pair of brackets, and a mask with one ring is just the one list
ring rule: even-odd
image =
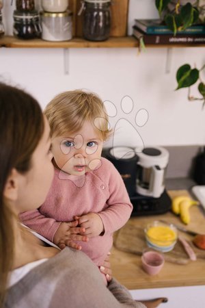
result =
[{"label": "lower white canister standing directly on the shelf, between dark jars", "polygon": [[42,39],[61,42],[72,39],[72,12],[41,12]]}]

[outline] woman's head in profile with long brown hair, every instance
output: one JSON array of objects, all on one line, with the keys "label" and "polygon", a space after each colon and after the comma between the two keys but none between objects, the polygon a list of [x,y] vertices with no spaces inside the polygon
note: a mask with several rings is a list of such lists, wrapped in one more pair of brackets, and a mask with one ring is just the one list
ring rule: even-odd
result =
[{"label": "woman's head in profile with long brown hair", "polygon": [[0,306],[14,255],[14,220],[20,211],[39,207],[51,185],[49,139],[37,101],[0,84]]}]

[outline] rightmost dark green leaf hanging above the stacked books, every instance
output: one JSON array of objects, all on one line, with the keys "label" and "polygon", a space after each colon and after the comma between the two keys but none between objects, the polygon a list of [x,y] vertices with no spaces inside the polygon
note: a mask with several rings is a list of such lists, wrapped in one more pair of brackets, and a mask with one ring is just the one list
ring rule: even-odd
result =
[{"label": "rightmost dark green leaf hanging above the stacked books", "polygon": [[186,5],[182,6],[180,11],[180,17],[183,22],[182,29],[186,29],[187,27],[190,27],[197,21],[199,16],[199,12],[196,8],[194,8],[191,3],[187,3]]}]

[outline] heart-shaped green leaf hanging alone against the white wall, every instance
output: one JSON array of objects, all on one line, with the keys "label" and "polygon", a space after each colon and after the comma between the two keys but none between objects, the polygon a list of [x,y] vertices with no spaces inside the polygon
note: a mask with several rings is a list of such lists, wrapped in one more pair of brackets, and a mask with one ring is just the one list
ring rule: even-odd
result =
[{"label": "heart-shaped green leaf hanging alone against the white wall", "polygon": [[176,73],[176,80],[178,82],[176,90],[192,86],[199,78],[199,75],[200,71],[197,68],[191,69],[189,64],[180,66]]}]

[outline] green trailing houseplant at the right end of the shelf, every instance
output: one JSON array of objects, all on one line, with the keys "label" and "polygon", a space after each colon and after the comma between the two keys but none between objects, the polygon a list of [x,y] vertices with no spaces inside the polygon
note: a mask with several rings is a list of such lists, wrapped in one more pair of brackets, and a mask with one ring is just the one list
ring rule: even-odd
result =
[{"label": "green trailing houseplant at the right end of the shelf", "polygon": [[[162,23],[165,23],[170,30],[176,35],[181,30],[190,27],[196,23],[205,23],[205,0],[155,0],[155,5],[159,11]],[[176,80],[178,87],[189,88],[189,101],[203,101],[205,105],[205,83],[202,81],[202,70],[205,68],[191,68],[189,64],[184,64],[178,68]],[[198,84],[199,97],[191,95],[191,86]]]}]

